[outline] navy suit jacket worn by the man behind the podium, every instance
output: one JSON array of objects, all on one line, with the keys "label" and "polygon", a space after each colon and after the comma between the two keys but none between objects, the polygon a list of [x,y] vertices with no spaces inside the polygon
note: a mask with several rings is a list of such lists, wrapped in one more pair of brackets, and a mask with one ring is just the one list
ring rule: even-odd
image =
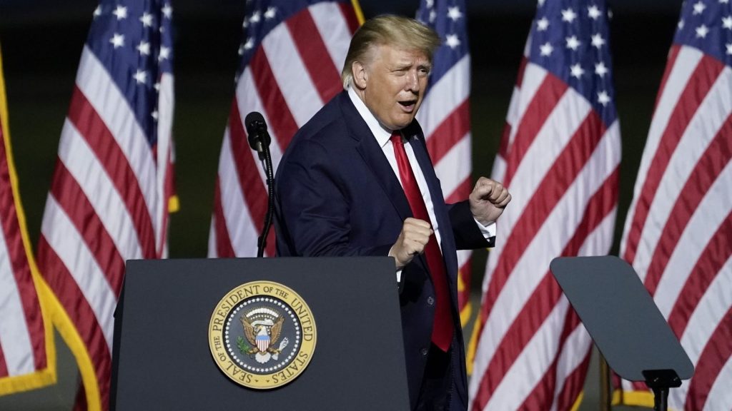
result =
[{"label": "navy suit jacket worn by the man behind the podium", "polygon": [[[455,344],[452,376],[467,404],[465,350],[458,314],[456,249],[491,246],[467,201],[446,205],[413,121],[403,130],[432,196],[450,287]],[[277,254],[282,256],[385,256],[411,210],[402,186],[348,93],[324,106],[295,135],[275,178]],[[427,263],[414,258],[402,272],[400,306],[411,404],[415,404],[430,347],[435,295]],[[456,393],[453,393],[455,396]]]}]

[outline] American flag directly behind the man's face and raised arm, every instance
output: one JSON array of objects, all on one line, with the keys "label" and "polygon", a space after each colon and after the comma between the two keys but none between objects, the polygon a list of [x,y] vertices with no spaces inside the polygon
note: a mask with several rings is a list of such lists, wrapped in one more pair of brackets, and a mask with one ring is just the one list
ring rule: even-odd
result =
[{"label": "American flag directly behind the man's face and raised arm", "polygon": [[[465,200],[471,192],[470,54],[467,12],[462,0],[422,0],[417,20],[437,31],[442,45],[433,56],[430,88],[417,120],[447,203]],[[470,318],[471,252],[458,251],[460,322]]]}]

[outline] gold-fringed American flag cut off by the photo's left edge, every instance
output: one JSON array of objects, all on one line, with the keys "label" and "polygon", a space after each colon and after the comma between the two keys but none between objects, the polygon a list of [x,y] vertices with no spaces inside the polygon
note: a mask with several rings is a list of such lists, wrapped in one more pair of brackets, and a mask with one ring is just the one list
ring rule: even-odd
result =
[{"label": "gold-fringed American flag cut off by the photo's left edge", "polygon": [[[0,56],[0,395],[56,381],[53,332],[35,284],[25,216],[18,195]],[[43,306],[43,307],[42,307]]]}]

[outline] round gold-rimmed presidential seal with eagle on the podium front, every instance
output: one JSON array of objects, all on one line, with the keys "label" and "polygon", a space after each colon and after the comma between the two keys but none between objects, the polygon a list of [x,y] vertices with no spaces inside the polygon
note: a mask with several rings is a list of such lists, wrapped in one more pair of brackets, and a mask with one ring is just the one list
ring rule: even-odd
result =
[{"label": "round gold-rimmed presidential seal with eagle on the podium front", "polygon": [[302,373],[315,350],[305,301],[276,282],[247,282],[219,301],[209,323],[216,365],[239,385],[276,388]]}]

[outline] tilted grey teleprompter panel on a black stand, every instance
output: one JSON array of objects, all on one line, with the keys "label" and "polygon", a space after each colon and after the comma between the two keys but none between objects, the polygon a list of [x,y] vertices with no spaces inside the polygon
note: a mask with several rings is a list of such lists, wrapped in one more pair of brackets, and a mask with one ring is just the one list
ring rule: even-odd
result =
[{"label": "tilted grey teleprompter panel on a black stand", "polygon": [[550,271],[613,371],[644,381],[655,410],[694,366],[633,268],[618,257],[559,257]]}]

